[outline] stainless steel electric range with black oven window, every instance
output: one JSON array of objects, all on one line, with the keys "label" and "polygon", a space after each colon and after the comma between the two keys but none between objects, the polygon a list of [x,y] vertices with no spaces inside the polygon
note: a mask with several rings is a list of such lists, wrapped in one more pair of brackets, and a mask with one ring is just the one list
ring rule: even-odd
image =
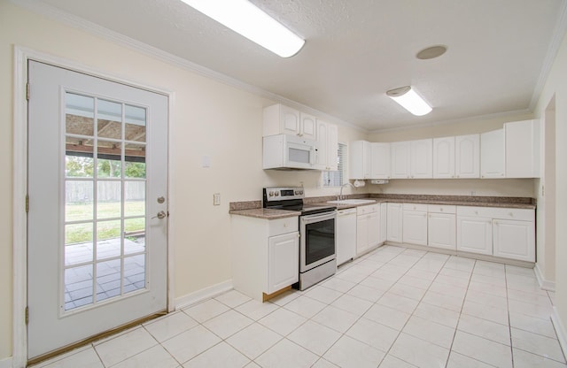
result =
[{"label": "stainless steel electric range with black oven window", "polygon": [[299,290],[337,272],[336,207],[304,204],[301,187],[264,188],[263,207],[301,211],[299,216]]}]

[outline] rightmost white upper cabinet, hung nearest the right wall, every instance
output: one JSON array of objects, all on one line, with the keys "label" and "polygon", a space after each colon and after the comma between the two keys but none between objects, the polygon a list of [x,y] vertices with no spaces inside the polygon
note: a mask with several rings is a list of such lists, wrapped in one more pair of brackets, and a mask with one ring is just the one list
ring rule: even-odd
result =
[{"label": "rightmost white upper cabinet, hung nearest the right wall", "polygon": [[540,177],[540,120],[504,124],[506,177]]}]

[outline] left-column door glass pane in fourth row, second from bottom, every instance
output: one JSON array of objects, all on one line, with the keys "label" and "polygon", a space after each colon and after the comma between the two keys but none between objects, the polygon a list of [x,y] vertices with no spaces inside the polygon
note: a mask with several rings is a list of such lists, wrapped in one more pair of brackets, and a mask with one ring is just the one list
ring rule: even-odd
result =
[{"label": "left-column door glass pane in fourth row, second from bottom", "polygon": [[92,262],[92,222],[65,226],[65,265]]}]

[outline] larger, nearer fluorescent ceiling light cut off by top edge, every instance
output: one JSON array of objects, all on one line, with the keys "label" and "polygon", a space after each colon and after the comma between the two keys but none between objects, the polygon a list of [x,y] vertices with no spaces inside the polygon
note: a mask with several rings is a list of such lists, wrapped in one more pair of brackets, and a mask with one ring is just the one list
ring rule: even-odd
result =
[{"label": "larger, nearer fluorescent ceiling light cut off by top edge", "polygon": [[298,53],[305,40],[247,0],[182,0],[282,58]]}]

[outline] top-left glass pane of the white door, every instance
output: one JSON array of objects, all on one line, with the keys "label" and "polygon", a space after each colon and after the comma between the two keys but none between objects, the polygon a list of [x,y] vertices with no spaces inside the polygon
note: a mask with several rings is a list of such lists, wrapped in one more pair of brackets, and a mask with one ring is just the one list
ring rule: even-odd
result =
[{"label": "top-left glass pane of the white door", "polygon": [[67,92],[65,102],[66,134],[92,136],[94,134],[95,99]]}]

